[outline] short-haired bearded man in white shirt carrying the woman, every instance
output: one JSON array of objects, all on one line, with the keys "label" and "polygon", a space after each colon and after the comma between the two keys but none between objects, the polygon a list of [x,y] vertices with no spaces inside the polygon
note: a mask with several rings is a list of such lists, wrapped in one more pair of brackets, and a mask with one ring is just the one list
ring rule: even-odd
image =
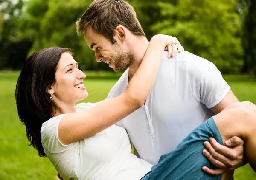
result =
[{"label": "short-haired bearded man in white shirt carrying the woman", "polygon": [[[97,62],[107,63],[116,72],[129,67],[108,98],[122,94],[149,43],[134,9],[123,0],[95,0],[77,21],[77,33],[84,34]],[[173,48],[177,49],[175,45]],[[164,52],[145,104],[117,125],[128,132],[135,154],[154,165],[160,155],[175,149],[199,124],[237,101],[211,62],[186,51],[174,58]],[[208,150],[204,155],[220,168],[204,167],[205,172],[222,174],[243,164],[243,141],[233,137],[225,143],[228,147],[216,141],[204,143]]]}]

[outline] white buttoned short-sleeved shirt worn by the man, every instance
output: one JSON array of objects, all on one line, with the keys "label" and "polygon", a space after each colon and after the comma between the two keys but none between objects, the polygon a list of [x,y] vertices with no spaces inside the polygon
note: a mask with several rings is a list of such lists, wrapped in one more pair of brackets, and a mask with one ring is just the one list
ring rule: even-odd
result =
[{"label": "white buttoned short-sleeved shirt worn by the man", "polygon": [[[108,98],[122,94],[127,85],[128,70]],[[117,125],[128,132],[135,154],[154,165],[161,155],[174,150],[193,129],[210,118],[213,113],[208,108],[217,105],[229,90],[212,62],[187,51],[169,59],[165,51],[145,105]]]}]

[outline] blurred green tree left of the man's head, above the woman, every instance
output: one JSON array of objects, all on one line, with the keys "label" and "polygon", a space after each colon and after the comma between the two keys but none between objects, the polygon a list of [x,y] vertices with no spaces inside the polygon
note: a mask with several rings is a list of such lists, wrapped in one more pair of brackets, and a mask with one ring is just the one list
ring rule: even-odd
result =
[{"label": "blurred green tree left of the man's head, above the woman", "polygon": [[[79,38],[76,34],[76,20],[84,14],[92,2],[93,0],[27,1],[24,24],[27,31],[35,32],[35,43],[29,54],[52,46],[72,48],[80,67],[86,67],[87,70],[108,70],[106,65],[95,61],[94,52],[88,48],[84,38]],[[40,8],[43,6],[46,8]],[[36,14],[40,14],[40,17]],[[30,24],[30,30],[27,24]]]}]

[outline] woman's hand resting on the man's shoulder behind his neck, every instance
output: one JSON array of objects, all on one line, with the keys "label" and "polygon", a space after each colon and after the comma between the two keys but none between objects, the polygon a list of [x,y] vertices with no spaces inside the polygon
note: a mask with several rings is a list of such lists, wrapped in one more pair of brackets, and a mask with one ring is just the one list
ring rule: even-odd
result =
[{"label": "woman's hand resting on the man's shoulder behind his neck", "polygon": [[164,34],[157,34],[152,37],[152,39],[156,39],[158,41],[162,41],[165,43],[166,48],[165,51],[168,50],[168,58],[176,56],[177,52],[184,51],[184,48],[182,45],[180,45],[180,42],[176,37],[164,35]]}]

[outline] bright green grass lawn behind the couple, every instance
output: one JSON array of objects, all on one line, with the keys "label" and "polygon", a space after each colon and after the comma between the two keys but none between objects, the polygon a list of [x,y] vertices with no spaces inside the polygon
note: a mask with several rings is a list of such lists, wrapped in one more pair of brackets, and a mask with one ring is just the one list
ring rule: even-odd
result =
[{"label": "bright green grass lawn behind the couple", "polygon": [[[0,72],[0,180],[56,180],[57,172],[47,158],[28,146],[25,127],[18,119],[14,89],[19,72]],[[88,72],[84,81],[89,97],[85,102],[105,99],[116,79],[97,79],[112,73]],[[116,74],[115,78],[120,76]],[[224,76],[240,101],[256,104],[256,84],[247,76]],[[246,165],[236,170],[235,180],[256,180],[256,173]]]}]

